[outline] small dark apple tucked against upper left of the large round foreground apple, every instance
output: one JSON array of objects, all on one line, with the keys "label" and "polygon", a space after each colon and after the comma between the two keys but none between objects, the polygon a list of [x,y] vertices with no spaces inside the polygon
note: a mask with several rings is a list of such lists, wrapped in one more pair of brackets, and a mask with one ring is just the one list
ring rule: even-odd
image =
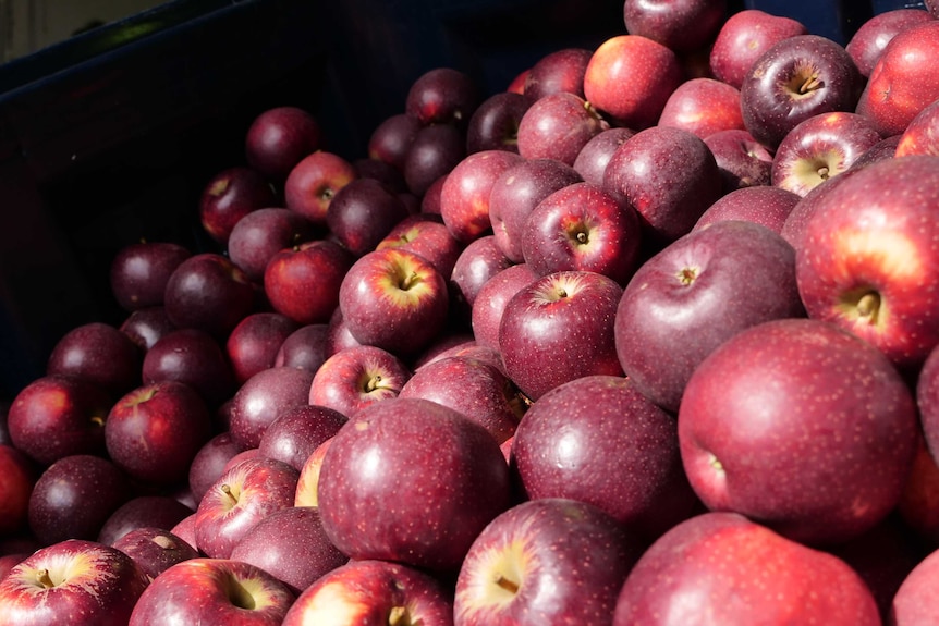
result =
[{"label": "small dark apple tucked against upper left of the large round foreground apple", "polygon": [[326,406],[302,405],[288,409],[265,430],[258,454],[282,461],[301,471],[313,451],[336,434],[347,419]]}]

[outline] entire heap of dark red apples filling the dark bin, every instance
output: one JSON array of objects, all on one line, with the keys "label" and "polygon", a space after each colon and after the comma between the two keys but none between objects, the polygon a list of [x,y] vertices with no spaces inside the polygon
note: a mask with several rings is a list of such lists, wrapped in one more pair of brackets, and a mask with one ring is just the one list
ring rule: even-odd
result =
[{"label": "entire heap of dark red apples filling the dark bin", "polygon": [[936,4],[623,17],[261,112],[0,412],[0,626],[936,624]]}]

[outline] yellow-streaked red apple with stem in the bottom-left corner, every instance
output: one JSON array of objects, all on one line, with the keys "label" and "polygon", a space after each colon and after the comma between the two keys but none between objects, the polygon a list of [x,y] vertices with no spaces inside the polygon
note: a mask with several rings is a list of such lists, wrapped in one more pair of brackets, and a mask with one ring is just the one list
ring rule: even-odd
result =
[{"label": "yellow-streaked red apple with stem in the bottom-left corner", "polygon": [[120,550],[64,540],[39,549],[0,579],[0,624],[123,626],[147,584]]}]

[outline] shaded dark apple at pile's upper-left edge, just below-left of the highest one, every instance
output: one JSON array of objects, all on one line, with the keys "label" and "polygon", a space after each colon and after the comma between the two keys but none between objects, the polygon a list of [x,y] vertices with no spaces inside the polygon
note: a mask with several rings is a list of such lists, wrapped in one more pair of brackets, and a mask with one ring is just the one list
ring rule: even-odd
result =
[{"label": "shaded dark apple at pile's upper-left edge, just below-left of the highest one", "polygon": [[277,205],[267,179],[252,168],[236,165],[214,175],[199,196],[199,223],[216,243],[228,244],[234,225],[246,214]]}]

